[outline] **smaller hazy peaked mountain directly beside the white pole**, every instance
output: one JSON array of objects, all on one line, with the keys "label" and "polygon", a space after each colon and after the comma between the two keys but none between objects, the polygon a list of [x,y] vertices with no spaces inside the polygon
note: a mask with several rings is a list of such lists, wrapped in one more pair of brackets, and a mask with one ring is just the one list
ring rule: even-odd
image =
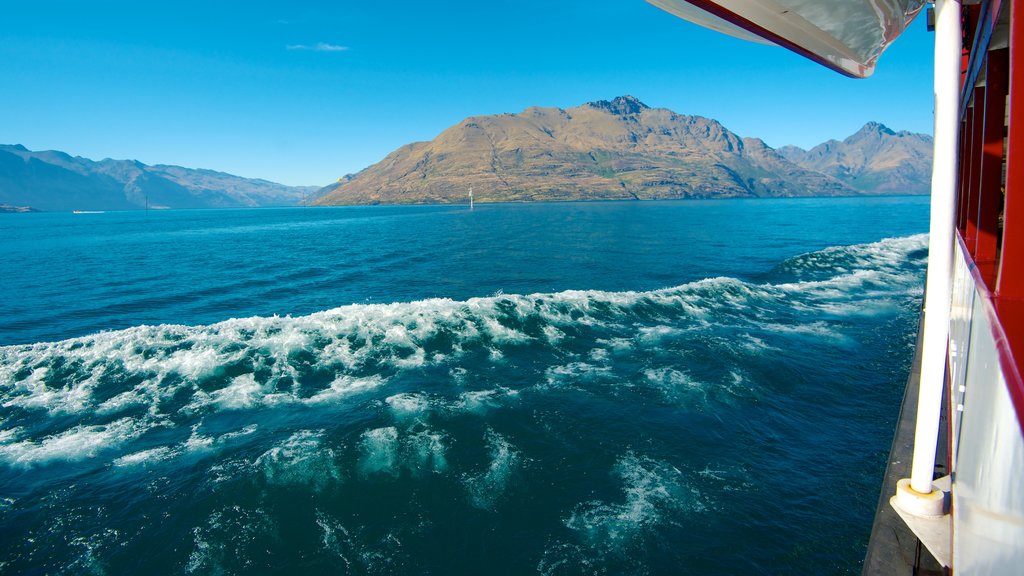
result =
[{"label": "smaller hazy peaked mountain directly beside the white pole", "polygon": [[843,141],[828,140],[809,151],[786,146],[780,155],[808,170],[834,176],[865,194],[928,194],[932,137],[893,131],[868,122]]}]

